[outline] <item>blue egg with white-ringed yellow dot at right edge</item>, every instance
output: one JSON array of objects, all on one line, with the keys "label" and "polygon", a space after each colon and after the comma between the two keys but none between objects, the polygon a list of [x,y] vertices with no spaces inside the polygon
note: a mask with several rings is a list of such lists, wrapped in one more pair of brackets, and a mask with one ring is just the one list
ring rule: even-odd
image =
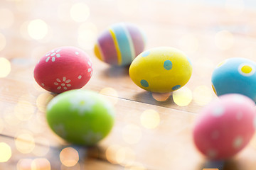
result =
[{"label": "blue egg with white-ringed yellow dot at right edge", "polygon": [[256,63],[245,58],[230,58],[220,62],[212,74],[215,94],[242,94],[256,101],[255,70]]}]

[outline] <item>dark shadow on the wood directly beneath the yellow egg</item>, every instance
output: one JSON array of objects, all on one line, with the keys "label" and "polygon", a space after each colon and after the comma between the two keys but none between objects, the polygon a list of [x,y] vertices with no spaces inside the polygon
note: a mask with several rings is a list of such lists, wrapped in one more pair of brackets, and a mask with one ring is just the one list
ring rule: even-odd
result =
[{"label": "dark shadow on the wood directly beneath the yellow egg", "polygon": [[174,104],[174,100],[171,96],[172,95],[170,95],[169,98],[166,99],[166,101],[156,101],[150,91],[143,91],[141,93],[135,94],[133,98],[135,101],[167,108],[170,106],[170,104]]}]

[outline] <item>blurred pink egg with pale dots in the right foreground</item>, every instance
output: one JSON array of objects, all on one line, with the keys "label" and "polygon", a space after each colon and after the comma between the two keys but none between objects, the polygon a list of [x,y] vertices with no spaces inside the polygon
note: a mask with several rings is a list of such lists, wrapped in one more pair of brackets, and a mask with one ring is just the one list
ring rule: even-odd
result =
[{"label": "blurred pink egg with pale dots in the right foreground", "polygon": [[255,102],[226,94],[201,112],[193,129],[196,147],[208,159],[229,159],[244,148],[255,132]]}]

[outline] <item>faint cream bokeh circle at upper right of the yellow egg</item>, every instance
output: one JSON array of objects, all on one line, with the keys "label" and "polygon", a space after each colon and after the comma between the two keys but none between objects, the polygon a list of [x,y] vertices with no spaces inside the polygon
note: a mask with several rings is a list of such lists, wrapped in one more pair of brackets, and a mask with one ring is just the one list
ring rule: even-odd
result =
[{"label": "faint cream bokeh circle at upper right of the yellow egg", "polygon": [[184,34],[179,40],[179,45],[187,54],[193,54],[198,50],[198,38],[193,34]]}]

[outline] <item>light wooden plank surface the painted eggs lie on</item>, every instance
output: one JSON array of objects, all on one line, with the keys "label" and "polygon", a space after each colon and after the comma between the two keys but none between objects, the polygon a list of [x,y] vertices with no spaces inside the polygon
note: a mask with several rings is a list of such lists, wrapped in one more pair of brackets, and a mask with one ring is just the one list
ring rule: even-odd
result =
[{"label": "light wooden plank surface the painted eggs lie on", "polygon": [[[80,2],[0,2],[0,57],[11,63],[11,72],[0,78],[0,158],[8,157],[9,148],[11,157],[0,162],[0,169],[255,169],[256,138],[233,159],[209,162],[194,147],[191,132],[201,108],[216,98],[210,84],[214,67],[229,57],[255,60],[256,11],[160,0],[95,0],[78,4],[90,9],[81,19],[73,10]],[[139,89],[127,68],[97,60],[95,38],[122,21],[145,31],[146,49],[171,46],[187,53],[193,74],[183,89],[161,101],[164,96]],[[33,68],[48,50],[63,45],[80,47],[92,57],[94,73],[82,89],[103,94],[117,111],[111,134],[95,147],[66,144],[45,120],[53,94],[36,84]],[[3,143],[9,147],[1,147]]]}]

